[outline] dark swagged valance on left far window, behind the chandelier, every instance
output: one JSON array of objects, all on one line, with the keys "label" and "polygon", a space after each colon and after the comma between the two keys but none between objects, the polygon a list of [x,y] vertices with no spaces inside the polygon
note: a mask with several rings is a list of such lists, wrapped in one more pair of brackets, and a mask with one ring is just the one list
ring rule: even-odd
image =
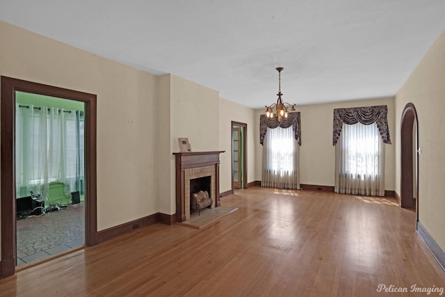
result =
[{"label": "dark swagged valance on left far window, behind the chandelier", "polygon": [[282,118],[281,122],[278,122],[278,118],[275,116],[273,119],[267,118],[266,115],[260,115],[259,117],[259,143],[263,145],[264,137],[266,137],[267,128],[275,129],[277,127],[293,128],[293,134],[298,145],[301,145],[301,128],[300,128],[300,111],[295,113],[289,113],[288,118]]}]

